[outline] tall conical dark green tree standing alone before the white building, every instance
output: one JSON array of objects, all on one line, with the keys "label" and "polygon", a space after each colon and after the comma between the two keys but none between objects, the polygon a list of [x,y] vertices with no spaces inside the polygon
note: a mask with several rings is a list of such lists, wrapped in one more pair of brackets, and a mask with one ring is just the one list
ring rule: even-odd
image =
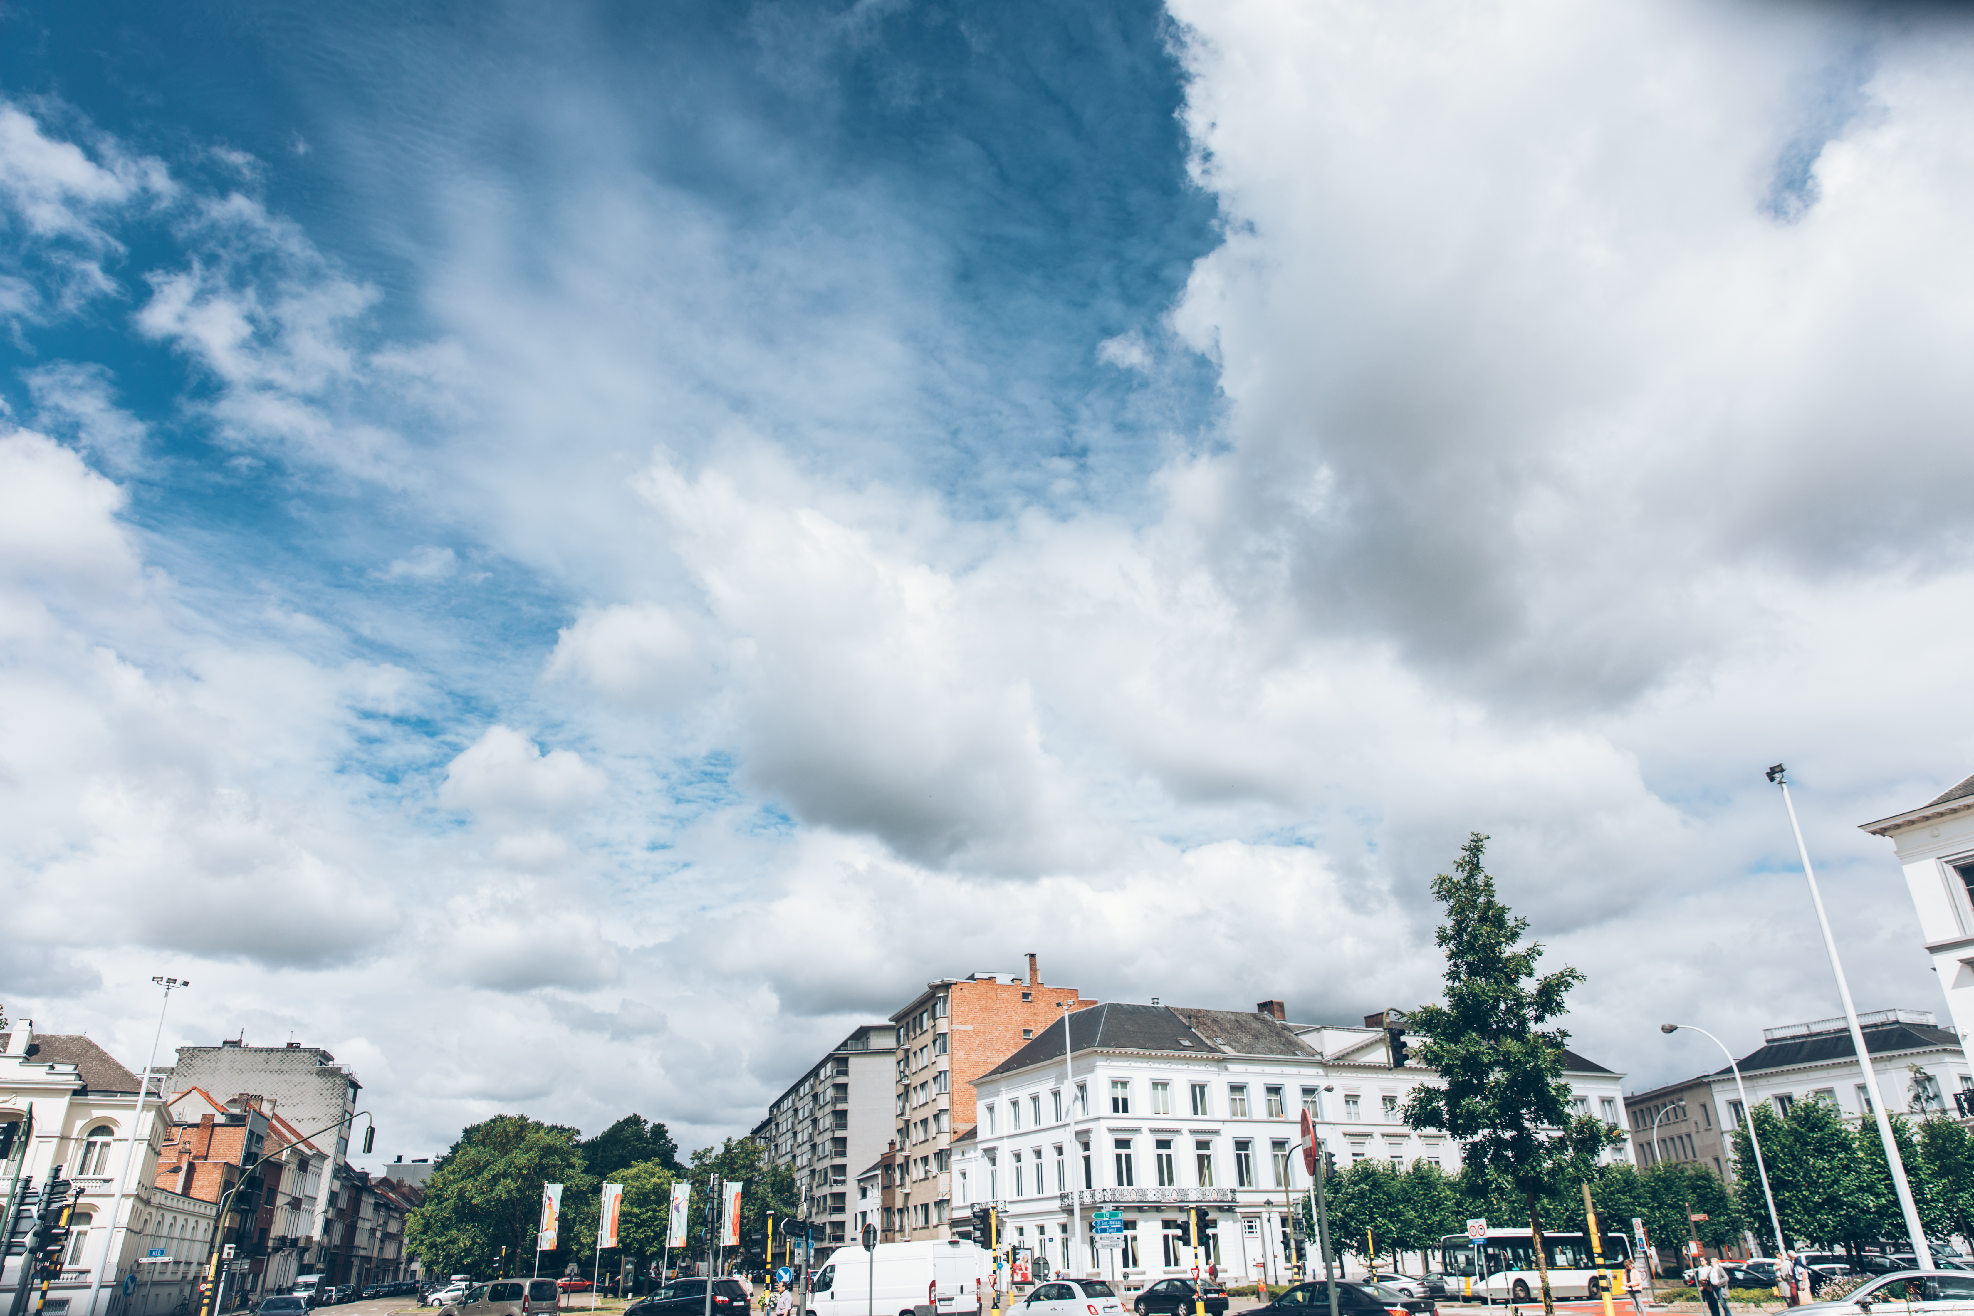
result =
[{"label": "tall conical dark green tree standing alone before the white building", "polygon": [[1415,1054],[1441,1081],[1411,1091],[1405,1123],[1461,1142],[1469,1192],[1484,1196],[1500,1186],[1520,1198],[1542,1310],[1554,1316],[1538,1198],[1593,1174],[1597,1154],[1623,1134],[1571,1113],[1563,1081],[1569,1034],[1546,1024],[1563,1014],[1583,975],[1563,967],[1536,977],[1542,943],[1522,943],[1528,919],[1494,898],[1494,878],[1480,864],[1484,852],[1486,837],[1473,833],[1453,874],[1433,878],[1433,896],[1445,906],[1433,939],[1447,955],[1447,1002],[1419,1006],[1405,1030],[1421,1038]]}]

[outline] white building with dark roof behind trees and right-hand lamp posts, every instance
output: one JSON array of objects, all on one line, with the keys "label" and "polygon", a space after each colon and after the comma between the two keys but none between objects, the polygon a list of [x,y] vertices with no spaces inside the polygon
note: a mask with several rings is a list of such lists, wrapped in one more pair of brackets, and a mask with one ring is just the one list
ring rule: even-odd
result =
[{"label": "white building with dark roof behind trees and right-hand lamp posts", "polygon": [[[1954,1095],[1974,1089],[1960,1040],[1935,1024],[1929,1010],[1875,1010],[1860,1014],[1871,1075],[1891,1111],[1950,1111]],[[1854,1121],[1869,1119],[1858,1048],[1842,1018],[1763,1028],[1761,1050],[1743,1056],[1741,1081],[1749,1101],[1767,1101],[1779,1113],[1798,1101],[1828,1101]],[[1709,1075],[1713,1101],[1739,1129],[1745,1113],[1733,1069]]]}]

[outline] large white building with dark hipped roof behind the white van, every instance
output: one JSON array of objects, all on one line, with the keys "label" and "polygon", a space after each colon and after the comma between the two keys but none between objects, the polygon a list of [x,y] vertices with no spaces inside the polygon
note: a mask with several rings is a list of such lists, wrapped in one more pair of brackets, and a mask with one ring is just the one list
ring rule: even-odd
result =
[{"label": "large white building with dark hipped roof behind the white van", "polygon": [[[1003,1211],[1003,1245],[1052,1271],[1094,1267],[1125,1286],[1188,1273],[1178,1207],[1212,1211],[1200,1265],[1252,1282],[1295,1275],[1285,1209],[1309,1188],[1297,1154],[1309,1111],[1338,1164],[1423,1158],[1459,1170],[1459,1146],[1404,1125],[1429,1069],[1394,1069],[1384,1016],[1364,1028],[1289,1024],[1252,1012],[1100,1004],[1062,1020],[973,1081],[975,1136],[955,1140],[955,1215]],[[1569,1056],[1577,1109],[1621,1123],[1621,1077]],[[1613,1152],[1625,1158],[1629,1152]],[[1072,1209],[1084,1239],[1072,1247]],[[1123,1245],[1098,1249],[1092,1209],[1123,1215]]]}]

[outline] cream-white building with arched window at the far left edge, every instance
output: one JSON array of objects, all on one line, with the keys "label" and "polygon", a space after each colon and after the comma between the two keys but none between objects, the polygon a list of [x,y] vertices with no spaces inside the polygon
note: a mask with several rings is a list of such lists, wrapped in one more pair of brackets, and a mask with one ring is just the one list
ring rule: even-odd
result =
[{"label": "cream-white building with arched window at the far left edge", "polygon": [[[38,1034],[22,1020],[0,1032],[0,1123],[26,1125],[30,1115],[34,1136],[16,1146],[4,1182],[20,1174],[39,1188],[61,1166],[79,1190],[45,1316],[146,1316],[190,1298],[215,1207],[154,1186],[158,1150],[170,1138],[162,1101],[152,1095],[138,1109],[138,1077],[109,1052],[85,1036]],[[130,1156],[136,1164],[126,1168]],[[8,1261],[0,1292],[14,1290],[22,1263]]]}]

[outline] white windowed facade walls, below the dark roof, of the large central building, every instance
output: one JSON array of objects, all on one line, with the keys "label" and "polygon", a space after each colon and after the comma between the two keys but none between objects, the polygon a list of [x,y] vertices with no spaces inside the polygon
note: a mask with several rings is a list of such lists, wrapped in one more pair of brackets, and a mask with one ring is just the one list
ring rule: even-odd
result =
[{"label": "white windowed facade walls, below the dark roof, of the large central building", "polygon": [[[1216,1211],[1222,1279],[1253,1282],[1261,1273],[1271,1282],[1293,1279],[1285,1257],[1285,1211],[1309,1188],[1295,1150],[1305,1101],[1319,1140],[1338,1166],[1364,1158],[1409,1166],[1423,1158],[1449,1174],[1459,1170],[1459,1146],[1451,1138],[1415,1133],[1398,1117],[1411,1089],[1431,1081],[1431,1071],[1352,1060],[1370,1048],[1374,1030],[1325,1032],[1356,1036],[1334,1038],[1340,1056],[1309,1060],[1096,1050],[1080,1052],[1068,1067],[1058,1061],[981,1077],[973,1085],[977,1136],[955,1146],[953,1211],[963,1215],[975,1204],[1001,1204],[1003,1245],[1046,1255],[1052,1271],[1084,1273],[1092,1253],[1068,1245],[1072,1196],[1086,1233],[1092,1209],[1117,1207],[1127,1233],[1135,1225],[1135,1257],[1100,1251],[1096,1269],[1135,1288],[1190,1273],[1190,1255],[1175,1259],[1165,1251],[1165,1219],[1182,1206],[1204,1204]],[[1317,1042],[1313,1034],[1305,1038]],[[1376,1050],[1382,1058],[1382,1030],[1376,1030]],[[1567,1077],[1581,1111],[1623,1127],[1623,1075]],[[1127,1111],[1111,1109],[1113,1083],[1125,1085]],[[1167,1083],[1169,1113],[1155,1107],[1155,1083]],[[1204,1115],[1192,1113],[1194,1083],[1206,1085]],[[1078,1087],[1088,1111],[1074,1097]],[[1279,1115],[1269,1107],[1271,1087],[1281,1089]],[[1236,1113],[1234,1089],[1246,1089],[1246,1115]],[[1060,1119],[1058,1095],[1064,1101]],[[1169,1176],[1161,1154],[1171,1158]],[[1619,1148],[1609,1158],[1629,1154]],[[1165,1178],[1171,1182],[1161,1182]]]}]

